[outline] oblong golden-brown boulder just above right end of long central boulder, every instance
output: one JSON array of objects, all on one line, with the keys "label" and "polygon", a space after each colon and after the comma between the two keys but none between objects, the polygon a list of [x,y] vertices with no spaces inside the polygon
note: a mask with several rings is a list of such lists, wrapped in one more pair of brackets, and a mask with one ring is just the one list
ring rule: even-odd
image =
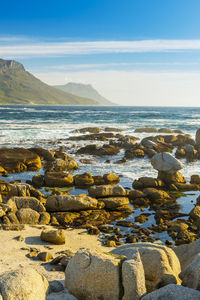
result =
[{"label": "oblong golden-brown boulder just above right end of long central boulder", "polygon": [[89,188],[88,193],[94,198],[126,196],[125,189],[119,184],[92,186]]}]

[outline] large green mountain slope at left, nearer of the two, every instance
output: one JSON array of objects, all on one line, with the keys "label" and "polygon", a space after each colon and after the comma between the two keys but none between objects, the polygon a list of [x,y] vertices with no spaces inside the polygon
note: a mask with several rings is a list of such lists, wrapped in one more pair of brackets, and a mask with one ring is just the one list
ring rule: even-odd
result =
[{"label": "large green mountain slope at left, nearer of the two", "polygon": [[99,105],[45,84],[14,60],[0,59],[0,104]]}]

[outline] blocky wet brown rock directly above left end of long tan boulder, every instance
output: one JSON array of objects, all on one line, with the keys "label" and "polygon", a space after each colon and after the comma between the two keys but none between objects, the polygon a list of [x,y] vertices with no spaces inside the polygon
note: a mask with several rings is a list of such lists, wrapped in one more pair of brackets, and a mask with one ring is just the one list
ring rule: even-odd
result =
[{"label": "blocky wet brown rock directly above left end of long tan boulder", "polygon": [[68,187],[73,185],[74,178],[65,172],[47,172],[44,176],[44,182],[49,187]]}]

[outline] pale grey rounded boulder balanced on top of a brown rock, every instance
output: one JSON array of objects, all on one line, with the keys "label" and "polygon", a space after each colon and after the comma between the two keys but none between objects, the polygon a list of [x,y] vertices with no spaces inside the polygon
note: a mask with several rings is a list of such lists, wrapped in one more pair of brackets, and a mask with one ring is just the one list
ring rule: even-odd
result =
[{"label": "pale grey rounded boulder balanced on top of a brown rock", "polygon": [[151,159],[151,164],[154,169],[168,173],[176,172],[184,167],[178,159],[168,152],[162,152],[154,155]]}]

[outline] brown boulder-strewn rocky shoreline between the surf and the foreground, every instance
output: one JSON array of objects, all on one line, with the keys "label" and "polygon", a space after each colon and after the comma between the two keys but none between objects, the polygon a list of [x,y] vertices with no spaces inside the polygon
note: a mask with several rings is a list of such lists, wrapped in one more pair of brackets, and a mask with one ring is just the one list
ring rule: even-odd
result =
[{"label": "brown boulder-strewn rocky shoreline between the surf and the foreground", "polygon": [[[20,242],[25,227],[36,226],[40,230],[40,241],[47,245],[63,244],[66,250],[69,228],[86,230],[88,237],[98,236],[105,247],[102,253],[82,249],[76,254],[64,253],[56,260],[57,272],[65,271],[65,287],[77,299],[126,300],[139,299],[143,295],[144,300],[160,299],[161,296],[162,299],[200,299],[200,292],[193,290],[199,289],[196,265],[200,252],[200,199],[197,197],[189,214],[180,212],[177,202],[185,191],[200,190],[200,175],[193,174],[187,182],[180,172],[184,166],[178,160],[200,159],[200,130],[197,130],[195,140],[179,130],[166,128],[140,128],[136,132],[154,135],[140,140],[134,135],[123,135],[117,128],[83,128],[66,140],[75,143],[76,150],[71,149],[75,158],[69,155],[63,143],[57,149],[60,141],[48,149],[0,148],[1,232],[20,231]],[[85,144],[77,149],[80,141]],[[157,177],[138,178],[133,181],[133,188],[128,189],[112,172],[98,176],[90,172],[78,173],[79,162],[88,164],[94,158],[104,157],[109,162],[108,158],[120,151],[124,156],[115,161],[116,164],[148,157],[158,172]],[[84,158],[81,157],[83,154]],[[36,172],[31,180],[9,180],[11,174],[29,171]],[[84,190],[84,194],[70,194],[72,188]],[[128,217],[135,209],[140,209],[140,214],[130,220]],[[151,216],[154,223],[143,227]],[[128,232],[123,228],[128,228]],[[166,246],[158,237],[162,233],[170,237],[164,241]],[[103,253],[110,251],[106,247],[115,248],[112,255]],[[183,263],[185,253],[179,249],[187,249],[190,257],[187,263]],[[195,249],[191,255],[190,249]],[[34,248],[29,249],[29,256],[46,262],[54,260],[52,263],[56,259],[51,251],[40,252]],[[78,272],[78,269],[82,271]],[[105,274],[98,275],[100,270]],[[18,299],[17,294],[10,296],[8,290],[9,284],[16,284],[15,280],[20,276],[37,277],[38,282],[35,279],[31,284],[38,289],[40,286],[43,296],[37,298],[39,296],[33,294],[27,298],[26,293],[32,292],[24,291],[24,296],[19,299],[46,299],[49,283],[34,272],[20,268],[15,274],[2,275],[0,292],[3,299]],[[107,283],[110,284],[111,279],[112,288],[109,288]],[[178,286],[181,281],[188,288]],[[130,287],[132,282],[134,285]],[[181,296],[165,298],[168,288],[174,290],[173,295]],[[47,299],[75,299],[63,290],[56,292],[50,290]],[[51,294],[55,294],[54,298]],[[188,298],[182,295],[188,295]]]}]

